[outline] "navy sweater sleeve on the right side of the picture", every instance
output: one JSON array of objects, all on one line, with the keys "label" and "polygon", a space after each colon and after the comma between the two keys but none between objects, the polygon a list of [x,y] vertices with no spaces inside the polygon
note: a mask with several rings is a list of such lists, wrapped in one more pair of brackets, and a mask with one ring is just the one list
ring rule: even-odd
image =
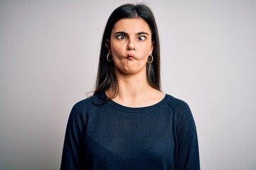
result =
[{"label": "navy sweater sleeve on the right side of the picture", "polygon": [[187,103],[176,102],[176,161],[175,169],[200,169],[198,137],[193,115]]}]

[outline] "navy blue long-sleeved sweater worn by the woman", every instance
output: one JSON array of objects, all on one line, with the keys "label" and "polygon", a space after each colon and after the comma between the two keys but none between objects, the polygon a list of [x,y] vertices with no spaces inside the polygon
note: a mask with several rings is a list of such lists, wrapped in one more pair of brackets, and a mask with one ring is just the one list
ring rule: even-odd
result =
[{"label": "navy blue long-sleeved sweater worn by the woman", "polygon": [[97,94],[75,104],[60,169],[200,169],[196,125],[188,105],[166,95],[129,108]]}]

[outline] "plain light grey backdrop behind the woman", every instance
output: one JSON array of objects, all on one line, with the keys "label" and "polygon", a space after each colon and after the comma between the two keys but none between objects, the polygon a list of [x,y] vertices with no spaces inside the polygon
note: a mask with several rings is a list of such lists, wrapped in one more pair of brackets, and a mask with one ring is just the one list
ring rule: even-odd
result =
[{"label": "plain light grey backdrop behind the woman", "polygon": [[[107,18],[127,2],[0,1],[0,169],[60,168]],[[163,91],[193,112],[201,169],[255,169],[256,1],[144,2],[159,26]]]}]

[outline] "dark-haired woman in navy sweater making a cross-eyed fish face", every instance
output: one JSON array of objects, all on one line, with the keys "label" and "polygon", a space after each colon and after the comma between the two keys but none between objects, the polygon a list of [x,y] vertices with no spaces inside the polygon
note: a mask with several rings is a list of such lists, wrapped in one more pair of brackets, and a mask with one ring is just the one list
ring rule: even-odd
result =
[{"label": "dark-haired woman in navy sweater making a cross-eyed fish face", "polygon": [[113,11],[95,92],[70,113],[60,169],[200,169],[193,116],[185,102],[161,92],[159,54],[147,6]]}]

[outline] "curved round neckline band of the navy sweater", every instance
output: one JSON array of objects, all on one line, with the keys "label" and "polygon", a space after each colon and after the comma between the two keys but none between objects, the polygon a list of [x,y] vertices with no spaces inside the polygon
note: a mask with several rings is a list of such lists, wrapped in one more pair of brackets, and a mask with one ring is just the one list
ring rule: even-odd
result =
[{"label": "curved round neckline band of the navy sweater", "polygon": [[[104,97],[107,98],[107,95],[105,93],[103,93]],[[127,112],[140,112],[140,111],[150,111],[150,110],[154,110],[156,108],[159,108],[159,106],[163,105],[164,103],[166,103],[168,99],[168,95],[165,94],[164,98],[161,99],[161,101],[159,101],[158,103],[155,103],[151,106],[144,106],[144,107],[129,107],[129,106],[123,106],[115,101],[113,101],[112,99],[110,99],[110,101],[107,101],[108,104],[110,104],[111,106],[113,106],[114,108],[117,108],[119,110],[122,111],[127,111]]]}]

